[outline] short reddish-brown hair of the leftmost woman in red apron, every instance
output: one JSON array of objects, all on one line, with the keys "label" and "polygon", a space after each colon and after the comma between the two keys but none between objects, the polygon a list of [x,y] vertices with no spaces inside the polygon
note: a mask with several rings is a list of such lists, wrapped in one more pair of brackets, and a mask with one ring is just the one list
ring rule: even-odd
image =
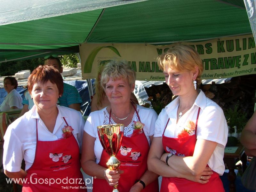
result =
[{"label": "short reddish-brown hair of the leftmost woman in red apron", "polygon": [[33,86],[37,82],[46,83],[50,81],[56,84],[59,90],[59,95],[63,93],[63,79],[59,71],[52,66],[39,65],[35,68],[28,77],[28,92],[31,94]]}]

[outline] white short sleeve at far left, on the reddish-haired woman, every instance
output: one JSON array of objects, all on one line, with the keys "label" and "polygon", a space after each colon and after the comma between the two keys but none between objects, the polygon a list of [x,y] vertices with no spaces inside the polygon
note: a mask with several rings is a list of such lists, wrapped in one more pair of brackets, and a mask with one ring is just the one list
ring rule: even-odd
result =
[{"label": "white short sleeve at far left, on the reddish-haired woman", "polygon": [[9,126],[4,135],[3,167],[9,172],[19,172],[24,150],[20,139]]}]

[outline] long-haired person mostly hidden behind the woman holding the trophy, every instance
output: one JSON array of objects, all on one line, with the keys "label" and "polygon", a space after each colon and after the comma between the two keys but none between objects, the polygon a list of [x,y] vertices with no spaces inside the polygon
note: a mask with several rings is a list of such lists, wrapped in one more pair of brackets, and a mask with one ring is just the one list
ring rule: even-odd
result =
[{"label": "long-haired person mostly hidden behind the woman holding the trophy", "polygon": [[[105,107],[108,107],[110,105],[110,102],[108,100],[108,97],[100,85],[100,76],[102,73],[102,69],[104,68],[104,65],[100,65],[98,68],[98,74],[94,83],[95,87],[95,94],[92,97],[92,102],[91,102],[91,112],[101,110]],[[135,104],[139,104],[136,96],[131,93],[131,101]]]}]

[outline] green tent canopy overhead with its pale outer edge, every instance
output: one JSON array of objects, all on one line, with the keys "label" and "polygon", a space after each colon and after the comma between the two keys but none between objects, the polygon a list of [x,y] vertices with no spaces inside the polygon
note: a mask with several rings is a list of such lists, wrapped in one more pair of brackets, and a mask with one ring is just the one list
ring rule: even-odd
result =
[{"label": "green tent canopy overhead with its pale outer edge", "polygon": [[[29,2],[36,0],[22,1]],[[14,8],[0,8],[0,63],[78,52],[81,43],[170,44],[252,34],[243,0],[51,2],[31,6],[35,16],[17,20]]]}]

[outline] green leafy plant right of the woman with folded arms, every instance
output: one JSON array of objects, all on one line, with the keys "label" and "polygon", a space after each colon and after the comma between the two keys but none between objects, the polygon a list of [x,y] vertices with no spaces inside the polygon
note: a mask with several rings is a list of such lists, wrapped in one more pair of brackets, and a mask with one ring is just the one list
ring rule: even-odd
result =
[{"label": "green leafy plant right of the woman with folded arms", "polygon": [[224,115],[227,120],[227,124],[230,127],[230,131],[234,132],[234,126],[237,127],[237,132],[241,132],[244,129],[245,124],[247,123],[246,114],[238,110],[239,102],[235,105],[234,108],[228,108],[224,112]]}]

